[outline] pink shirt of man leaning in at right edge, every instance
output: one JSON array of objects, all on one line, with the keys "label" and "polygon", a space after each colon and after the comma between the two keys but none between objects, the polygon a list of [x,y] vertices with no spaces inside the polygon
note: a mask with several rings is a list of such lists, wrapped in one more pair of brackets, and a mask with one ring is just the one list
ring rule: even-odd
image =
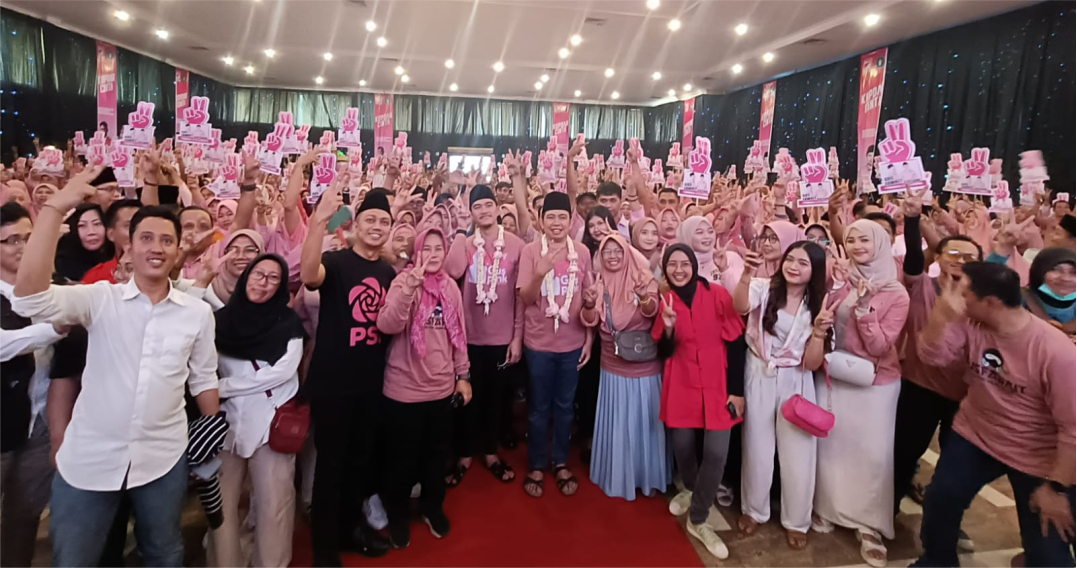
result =
[{"label": "pink shirt of man leaning in at right edge", "polygon": [[1037,477],[1051,472],[1059,447],[1072,455],[1077,358],[1063,332],[1034,316],[1005,334],[951,323],[942,341],[920,342],[919,350],[929,364],[965,368],[968,394],[953,429],[988,455]]}]

